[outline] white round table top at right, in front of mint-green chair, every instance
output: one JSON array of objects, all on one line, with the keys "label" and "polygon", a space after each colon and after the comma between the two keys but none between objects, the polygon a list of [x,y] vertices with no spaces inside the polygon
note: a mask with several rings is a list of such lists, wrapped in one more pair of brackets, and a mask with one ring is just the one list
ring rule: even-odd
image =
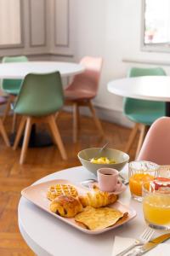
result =
[{"label": "white round table top at right, in front of mint-green chair", "polygon": [[107,88],[118,96],[160,102],[170,101],[170,76],[116,79],[111,81]]}]

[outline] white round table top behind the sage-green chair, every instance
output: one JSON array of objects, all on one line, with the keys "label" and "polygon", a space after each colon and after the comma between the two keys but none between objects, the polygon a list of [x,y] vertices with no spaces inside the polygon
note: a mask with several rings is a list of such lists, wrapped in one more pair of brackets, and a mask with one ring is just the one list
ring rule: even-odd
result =
[{"label": "white round table top behind the sage-green chair", "polygon": [[58,61],[28,61],[0,64],[0,79],[24,79],[28,73],[52,73],[59,71],[62,77],[82,73],[84,67],[77,63]]}]

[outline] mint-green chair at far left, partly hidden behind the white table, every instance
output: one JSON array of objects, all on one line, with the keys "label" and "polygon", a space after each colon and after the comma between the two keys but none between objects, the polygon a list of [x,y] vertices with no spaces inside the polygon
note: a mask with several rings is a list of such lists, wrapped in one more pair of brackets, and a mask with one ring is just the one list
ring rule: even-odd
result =
[{"label": "mint-green chair at far left, partly hidden behind the white table", "polygon": [[[26,62],[28,61],[25,55],[21,56],[5,56],[3,57],[3,63],[10,63],[10,62]],[[18,96],[20,92],[20,86],[22,84],[21,79],[3,79],[2,89],[4,92],[8,94],[8,102],[3,114],[3,122],[8,116],[8,112],[10,111],[11,103],[14,102],[16,96]],[[15,129],[15,122],[16,122],[16,115],[13,116],[13,125],[12,125],[12,132]]]}]

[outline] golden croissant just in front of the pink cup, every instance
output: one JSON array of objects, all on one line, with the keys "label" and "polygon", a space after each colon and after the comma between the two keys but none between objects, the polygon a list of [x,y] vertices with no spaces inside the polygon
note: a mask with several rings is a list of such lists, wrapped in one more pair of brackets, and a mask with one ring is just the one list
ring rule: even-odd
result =
[{"label": "golden croissant just in front of the pink cup", "polygon": [[94,190],[92,193],[88,192],[86,195],[79,195],[79,201],[82,203],[82,207],[105,207],[114,203],[116,200],[117,195],[98,190]]}]

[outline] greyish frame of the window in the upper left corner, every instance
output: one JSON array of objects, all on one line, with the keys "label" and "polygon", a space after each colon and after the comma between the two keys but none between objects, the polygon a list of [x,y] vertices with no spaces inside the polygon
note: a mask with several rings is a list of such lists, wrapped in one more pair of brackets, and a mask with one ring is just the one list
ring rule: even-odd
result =
[{"label": "greyish frame of the window in the upper left corner", "polygon": [[20,44],[0,44],[0,49],[24,48],[24,1],[20,0]]}]

